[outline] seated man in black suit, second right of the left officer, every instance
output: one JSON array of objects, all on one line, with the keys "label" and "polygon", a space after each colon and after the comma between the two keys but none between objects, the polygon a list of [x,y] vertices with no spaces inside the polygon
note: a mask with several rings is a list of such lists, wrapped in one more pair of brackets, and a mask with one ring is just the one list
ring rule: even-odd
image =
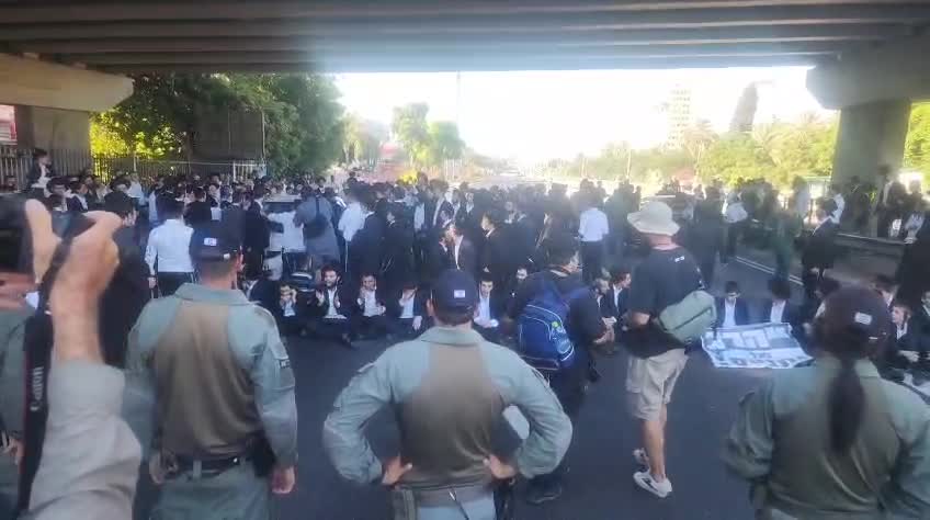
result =
[{"label": "seated man in black suit, second right of the left officer", "polygon": [[309,328],[320,339],[333,340],[343,347],[354,348],[351,324],[356,308],[355,298],[345,285],[339,283],[339,273],[336,268],[326,265],[320,274],[324,285],[314,293]]}]

